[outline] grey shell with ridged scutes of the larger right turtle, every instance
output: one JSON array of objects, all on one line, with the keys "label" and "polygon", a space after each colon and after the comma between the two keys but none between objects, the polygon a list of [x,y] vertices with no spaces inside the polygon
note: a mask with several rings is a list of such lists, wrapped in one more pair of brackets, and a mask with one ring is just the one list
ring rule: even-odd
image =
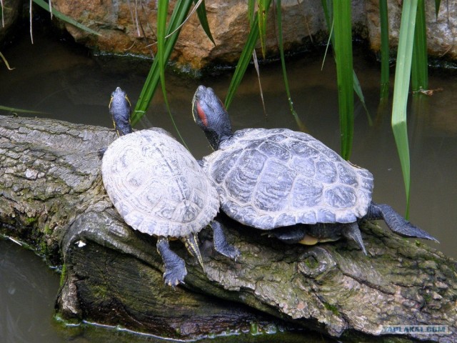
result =
[{"label": "grey shell with ridged scutes of the larger right turtle", "polygon": [[350,223],[371,202],[373,175],[302,132],[243,129],[204,158],[221,209],[242,224]]}]

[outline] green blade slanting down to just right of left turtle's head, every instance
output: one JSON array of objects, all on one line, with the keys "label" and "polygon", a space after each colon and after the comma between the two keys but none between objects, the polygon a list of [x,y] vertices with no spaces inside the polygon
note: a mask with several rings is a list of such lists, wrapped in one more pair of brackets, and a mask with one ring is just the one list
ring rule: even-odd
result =
[{"label": "green blade slanting down to just right of left turtle's head", "polygon": [[[175,31],[176,28],[179,27],[180,24],[186,19],[186,15],[189,13],[189,9],[191,9],[192,3],[193,0],[182,0],[176,2],[174,11],[171,14],[171,18],[169,19],[169,25],[167,26],[166,34]],[[165,41],[164,59],[167,61],[169,60],[171,51],[173,51],[174,45],[176,44],[178,35],[179,30],[175,31],[175,33]],[[149,74],[146,77],[143,89],[141,89],[139,99],[136,101],[134,113],[132,114],[131,118],[132,125],[135,125],[141,116],[144,116],[148,110],[151,99],[153,98],[156,88],[159,85],[159,72],[159,59],[154,59],[151,69],[149,69]]]}]

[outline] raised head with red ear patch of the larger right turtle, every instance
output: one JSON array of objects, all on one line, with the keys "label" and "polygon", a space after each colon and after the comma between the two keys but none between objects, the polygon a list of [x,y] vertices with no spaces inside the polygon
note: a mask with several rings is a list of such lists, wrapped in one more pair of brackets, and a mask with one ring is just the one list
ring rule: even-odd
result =
[{"label": "raised head with red ear patch of the larger right turtle", "polygon": [[232,135],[229,114],[212,88],[197,88],[192,100],[192,115],[214,150]]}]

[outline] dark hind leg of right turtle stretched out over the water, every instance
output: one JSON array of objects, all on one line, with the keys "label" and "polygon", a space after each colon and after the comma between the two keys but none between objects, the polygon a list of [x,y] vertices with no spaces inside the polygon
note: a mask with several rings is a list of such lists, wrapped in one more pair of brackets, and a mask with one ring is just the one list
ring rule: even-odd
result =
[{"label": "dark hind leg of right turtle stretched out over the water", "polygon": [[396,234],[406,237],[430,239],[431,241],[438,242],[438,239],[408,222],[408,220],[404,219],[401,214],[398,214],[387,204],[375,204],[374,202],[371,202],[370,207],[368,207],[368,214],[366,214],[364,219],[383,219],[388,228]]}]

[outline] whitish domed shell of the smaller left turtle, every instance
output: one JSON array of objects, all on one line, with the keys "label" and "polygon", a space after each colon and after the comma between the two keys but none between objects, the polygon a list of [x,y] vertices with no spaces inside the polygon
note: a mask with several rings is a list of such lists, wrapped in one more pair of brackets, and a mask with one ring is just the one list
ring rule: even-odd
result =
[{"label": "whitish domed shell of the smaller left turtle", "polygon": [[186,237],[219,211],[214,184],[189,151],[161,129],[120,136],[101,164],[106,192],[132,228]]}]

